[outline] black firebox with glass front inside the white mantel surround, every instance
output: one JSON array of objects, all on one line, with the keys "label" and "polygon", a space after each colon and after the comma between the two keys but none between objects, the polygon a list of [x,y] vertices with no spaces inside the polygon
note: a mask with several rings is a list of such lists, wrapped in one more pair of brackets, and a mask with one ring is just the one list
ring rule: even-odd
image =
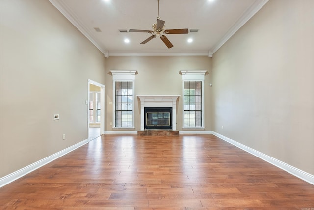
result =
[{"label": "black firebox with glass front inside the white mantel surround", "polygon": [[172,107],[144,107],[144,129],[172,129]]}]

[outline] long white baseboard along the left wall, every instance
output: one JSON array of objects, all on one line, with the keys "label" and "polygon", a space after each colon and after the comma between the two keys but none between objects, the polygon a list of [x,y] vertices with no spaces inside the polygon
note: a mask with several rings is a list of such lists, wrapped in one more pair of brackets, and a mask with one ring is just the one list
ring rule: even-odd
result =
[{"label": "long white baseboard along the left wall", "polygon": [[69,152],[71,152],[71,151],[73,151],[73,150],[83,146],[84,144],[87,144],[87,143],[88,143],[88,139],[85,139],[85,140],[83,140],[81,142],[78,142],[75,145],[72,145],[71,147],[68,147],[68,148],[66,148],[64,150],[61,150],[60,152],[57,152],[57,153],[55,153],[55,154],[53,154],[53,155],[51,155],[49,157],[45,157],[45,158],[43,158],[43,159],[41,159],[41,160],[39,160],[37,162],[34,162],[34,163],[32,163],[32,164],[30,164],[30,165],[28,165],[28,166],[26,166],[26,167],[24,167],[24,168],[22,168],[20,170],[17,170],[17,171],[15,171],[15,172],[13,172],[13,173],[11,173],[9,175],[6,175],[6,176],[2,177],[0,179],[0,187],[4,186],[6,184],[9,184],[9,183],[11,183],[11,182],[13,182],[13,181],[15,181],[15,180],[25,176],[26,174],[36,170],[37,168],[40,168],[40,167],[50,163],[51,161],[53,161],[53,160],[55,160],[55,159],[57,159],[57,158],[59,158],[61,156],[64,156],[65,154],[67,154],[67,153],[69,153]]}]

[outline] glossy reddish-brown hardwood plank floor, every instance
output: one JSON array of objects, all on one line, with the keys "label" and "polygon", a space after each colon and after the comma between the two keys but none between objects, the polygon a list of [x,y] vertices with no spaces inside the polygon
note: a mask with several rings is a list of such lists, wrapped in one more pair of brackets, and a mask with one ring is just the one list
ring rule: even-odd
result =
[{"label": "glossy reddish-brown hardwood plank floor", "polygon": [[314,186],[213,135],[102,135],[0,189],[1,210],[314,210]]}]

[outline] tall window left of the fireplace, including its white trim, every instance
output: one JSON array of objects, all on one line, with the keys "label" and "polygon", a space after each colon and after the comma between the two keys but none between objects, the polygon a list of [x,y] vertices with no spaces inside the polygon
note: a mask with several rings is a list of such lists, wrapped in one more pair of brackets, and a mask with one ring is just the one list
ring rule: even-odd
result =
[{"label": "tall window left of the fireplace, including its white trim", "polygon": [[113,128],[134,128],[134,84],[137,71],[110,71],[113,81]]}]

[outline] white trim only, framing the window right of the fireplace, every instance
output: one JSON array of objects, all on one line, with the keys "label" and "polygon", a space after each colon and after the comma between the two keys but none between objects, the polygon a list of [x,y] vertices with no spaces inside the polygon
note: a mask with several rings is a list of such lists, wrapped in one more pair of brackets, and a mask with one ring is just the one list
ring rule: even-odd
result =
[{"label": "white trim only, framing the window right of the fireplace", "polygon": [[[204,125],[204,81],[205,74],[207,70],[181,70],[180,74],[182,75],[182,129],[205,129]],[[184,127],[184,81],[201,81],[202,82],[202,126],[201,127]]]}]

